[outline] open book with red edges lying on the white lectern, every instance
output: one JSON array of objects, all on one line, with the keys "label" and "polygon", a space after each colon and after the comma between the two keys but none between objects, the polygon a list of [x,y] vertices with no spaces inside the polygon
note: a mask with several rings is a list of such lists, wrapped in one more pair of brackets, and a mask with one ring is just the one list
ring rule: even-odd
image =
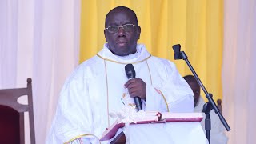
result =
[{"label": "open book with red edges lying on the white lectern", "polygon": [[[144,118],[138,118],[136,123],[130,124],[147,124],[147,123],[164,123],[164,122],[201,122],[202,113],[159,113],[147,111]],[[115,121],[103,134],[101,141],[110,140],[117,133],[119,128],[125,126],[125,123]]]}]

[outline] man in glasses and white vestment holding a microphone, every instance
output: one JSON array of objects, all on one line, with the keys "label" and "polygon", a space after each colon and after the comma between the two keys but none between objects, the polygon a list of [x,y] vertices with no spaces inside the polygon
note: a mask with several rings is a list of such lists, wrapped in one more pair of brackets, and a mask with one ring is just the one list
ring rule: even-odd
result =
[{"label": "man in glasses and white vestment holding a microphone", "polygon": [[[107,43],[66,80],[46,143],[97,143],[115,121],[110,111],[134,106],[134,96],[142,99],[143,110],[193,112],[190,86],[174,63],[151,56],[137,44],[140,33],[133,10],[110,10],[104,30]],[[130,80],[125,73],[129,63],[137,76]]]}]

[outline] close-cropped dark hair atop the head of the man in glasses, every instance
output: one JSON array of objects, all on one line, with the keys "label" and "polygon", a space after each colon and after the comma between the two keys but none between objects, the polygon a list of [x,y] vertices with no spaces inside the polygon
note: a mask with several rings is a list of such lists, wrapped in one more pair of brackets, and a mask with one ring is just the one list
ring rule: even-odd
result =
[{"label": "close-cropped dark hair atop the head of the man in glasses", "polygon": [[134,24],[138,26],[138,18],[137,18],[137,15],[134,13],[134,10],[131,10],[126,6],[118,6],[110,10],[110,12],[106,14],[105,27],[110,26],[109,22],[111,17],[113,17],[115,14],[120,14],[120,13],[125,13],[130,15],[130,18],[132,18],[132,20],[134,21]]}]

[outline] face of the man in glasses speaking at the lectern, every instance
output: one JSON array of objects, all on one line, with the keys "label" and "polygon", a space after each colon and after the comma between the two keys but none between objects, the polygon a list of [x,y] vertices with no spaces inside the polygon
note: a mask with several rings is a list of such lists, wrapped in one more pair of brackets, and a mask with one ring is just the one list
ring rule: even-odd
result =
[{"label": "face of the man in glasses speaking at the lectern", "polygon": [[123,26],[126,24],[134,24],[136,26],[131,31],[125,31],[119,28],[117,32],[111,33],[108,30],[104,30],[106,42],[108,42],[109,49],[113,54],[120,56],[134,54],[141,30],[137,26],[134,14],[127,10],[111,13],[106,19],[106,27]]}]

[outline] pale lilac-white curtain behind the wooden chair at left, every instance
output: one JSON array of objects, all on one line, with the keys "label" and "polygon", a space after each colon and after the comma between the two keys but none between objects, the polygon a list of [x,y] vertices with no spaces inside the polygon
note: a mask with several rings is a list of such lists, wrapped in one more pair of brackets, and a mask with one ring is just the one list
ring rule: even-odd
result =
[{"label": "pale lilac-white curtain behind the wooden chair at left", "polygon": [[0,1],[0,89],[26,87],[26,78],[32,78],[38,144],[45,143],[58,94],[78,66],[80,10],[80,0]]}]

